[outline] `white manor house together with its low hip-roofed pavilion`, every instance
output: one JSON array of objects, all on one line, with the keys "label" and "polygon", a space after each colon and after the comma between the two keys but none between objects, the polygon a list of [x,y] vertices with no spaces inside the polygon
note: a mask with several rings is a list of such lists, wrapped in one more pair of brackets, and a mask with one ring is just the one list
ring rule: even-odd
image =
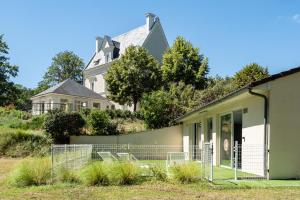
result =
[{"label": "white manor house together with its low hip-roofed pavilion", "polygon": [[142,46],[157,59],[169,47],[159,17],[146,14],[146,23],[121,35],[96,37],[95,53],[83,70],[83,87],[75,81],[65,80],[32,99],[32,113],[42,114],[54,108],[79,110],[84,108],[133,110],[132,106],[119,105],[108,100],[104,76],[110,65],[120,58],[130,45]]}]

